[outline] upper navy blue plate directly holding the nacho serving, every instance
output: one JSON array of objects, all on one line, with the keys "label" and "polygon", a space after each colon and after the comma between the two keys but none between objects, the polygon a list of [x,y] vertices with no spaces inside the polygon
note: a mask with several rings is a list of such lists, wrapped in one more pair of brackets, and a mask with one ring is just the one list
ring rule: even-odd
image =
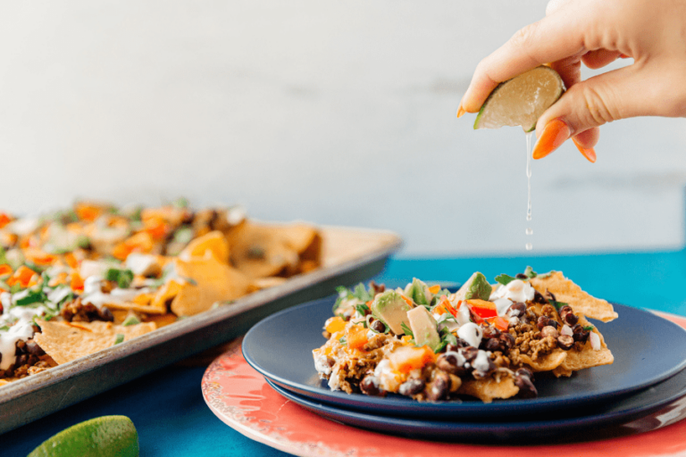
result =
[{"label": "upper navy blue plate directly holding the nacho serving", "polygon": [[[243,340],[246,361],[275,384],[315,402],[373,414],[438,420],[489,420],[546,413],[585,413],[672,377],[686,366],[686,331],[651,312],[615,304],[619,318],[598,322],[612,365],[581,370],[571,378],[536,376],[539,396],[481,403],[476,399],[419,403],[401,395],[372,397],[331,391],[314,370],[312,350],[323,345],[322,327],[335,297],[305,303],[260,321]],[[468,398],[468,397],[467,397]]]}]

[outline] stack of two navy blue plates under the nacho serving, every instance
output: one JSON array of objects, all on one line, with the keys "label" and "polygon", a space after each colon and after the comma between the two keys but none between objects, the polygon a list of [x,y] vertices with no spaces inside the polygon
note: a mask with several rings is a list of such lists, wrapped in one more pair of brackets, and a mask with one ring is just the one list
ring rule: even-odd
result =
[{"label": "stack of two navy blue plates under the nacho serving", "polygon": [[513,442],[623,424],[686,396],[686,331],[620,304],[619,319],[598,323],[615,363],[571,378],[540,375],[534,399],[418,403],[401,395],[331,391],[314,370],[312,350],[326,342],[322,326],[334,302],[325,298],[262,320],[243,340],[243,355],[280,395],[348,425],[423,438]]}]

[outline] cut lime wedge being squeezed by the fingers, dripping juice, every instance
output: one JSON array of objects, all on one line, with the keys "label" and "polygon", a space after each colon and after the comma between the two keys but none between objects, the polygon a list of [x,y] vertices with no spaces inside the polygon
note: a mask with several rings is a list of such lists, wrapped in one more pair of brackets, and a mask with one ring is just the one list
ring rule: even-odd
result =
[{"label": "cut lime wedge being squeezed by the fingers, dripping juice", "polygon": [[557,71],[536,67],[498,84],[481,106],[474,129],[521,125],[530,132],[536,128],[540,115],[564,92],[565,84]]}]

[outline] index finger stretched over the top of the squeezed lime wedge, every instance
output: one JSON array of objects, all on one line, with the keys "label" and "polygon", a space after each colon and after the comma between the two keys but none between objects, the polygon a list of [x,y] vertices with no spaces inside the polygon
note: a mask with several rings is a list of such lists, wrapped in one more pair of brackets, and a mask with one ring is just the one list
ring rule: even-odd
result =
[{"label": "index finger stretched over the top of the squeezed lime wedge", "polygon": [[479,62],[462,99],[464,111],[478,112],[490,92],[507,79],[543,63],[583,54],[588,16],[583,18],[578,11],[563,8],[520,29],[505,45]]}]

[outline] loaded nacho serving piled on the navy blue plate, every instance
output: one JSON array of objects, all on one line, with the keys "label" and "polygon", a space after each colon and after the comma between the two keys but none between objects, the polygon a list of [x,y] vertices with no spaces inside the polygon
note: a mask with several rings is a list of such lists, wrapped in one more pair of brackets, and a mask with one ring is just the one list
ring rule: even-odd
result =
[{"label": "loaded nacho serving piled on the navy blue plate", "polygon": [[534,373],[569,377],[614,361],[586,320],[614,320],[612,304],[559,271],[527,267],[496,283],[476,272],[455,294],[417,278],[397,290],[339,287],[328,341],[313,351],[320,378],[348,394],[490,403],[538,395]]}]

